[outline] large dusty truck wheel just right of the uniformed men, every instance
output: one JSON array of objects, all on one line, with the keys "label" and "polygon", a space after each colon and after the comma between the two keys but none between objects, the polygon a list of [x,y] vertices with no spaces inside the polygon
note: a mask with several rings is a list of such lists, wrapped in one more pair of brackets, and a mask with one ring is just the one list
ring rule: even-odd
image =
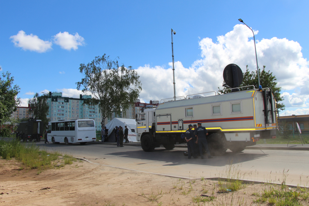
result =
[{"label": "large dusty truck wheel just right of the uniformed men", "polygon": [[208,149],[210,154],[213,156],[221,156],[225,154],[227,146],[226,139],[224,136],[213,133],[209,137],[207,137]]}]

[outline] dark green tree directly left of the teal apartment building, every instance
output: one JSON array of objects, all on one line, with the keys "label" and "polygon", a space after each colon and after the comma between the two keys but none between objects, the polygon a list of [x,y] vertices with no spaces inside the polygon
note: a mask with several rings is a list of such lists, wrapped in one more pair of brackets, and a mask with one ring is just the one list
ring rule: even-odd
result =
[{"label": "dark green tree directly left of the teal apartment building", "polygon": [[49,112],[49,105],[47,104],[48,95],[40,96],[39,93],[36,93],[33,98],[28,100],[30,104],[29,113],[38,120],[42,120],[43,127],[45,128],[48,125],[49,119],[47,119],[47,115]]}]

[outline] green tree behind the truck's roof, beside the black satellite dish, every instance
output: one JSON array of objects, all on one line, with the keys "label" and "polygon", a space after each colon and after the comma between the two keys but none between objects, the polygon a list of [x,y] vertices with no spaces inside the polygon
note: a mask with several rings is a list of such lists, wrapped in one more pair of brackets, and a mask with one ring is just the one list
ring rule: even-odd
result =
[{"label": "green tree behind the truck's roof, beside the black satellite dish", "polygon": [[[283,101],[284,99],[280,96],[280,92],[281,92],[281,87],[277,86],[277,78],[276,76],[273,75],[272,72],[266,71],[265,70],[266,66],[263,66],[263,69],[260,70],[260,83],[262,88],[270,88],[275,96],[275,98],[277,99],[277,108],[284,110],[285,105],[282,103],[279,103],[281,101]],[[223,85],[225,85],[225,82],[223,81]],[[254,85],[255,88],[259,88],[259,82],[258,82],[258,78],[257,78],[257,71],[252,71],[249,72],[248,69],[248,65],[246,68],[246,72],[243,73],[243,83],[239,86],[249,86],[249,85]],[[219,88],[219,87],[218,87]],[[252,89],[252,87],[244,87],[244,88],[240,88],[240,90],[250,90]],[[230,92],[231,90],[226,90],[224,92],[222,92],[223,94],[225,94],[226,92]]]}]

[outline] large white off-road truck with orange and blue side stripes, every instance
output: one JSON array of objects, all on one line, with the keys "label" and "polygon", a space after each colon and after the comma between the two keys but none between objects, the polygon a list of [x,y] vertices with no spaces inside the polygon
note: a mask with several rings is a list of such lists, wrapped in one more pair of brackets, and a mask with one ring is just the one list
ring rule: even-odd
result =
[{"label": "large white off-road truck with orange and blue side stripes", "polygon": [[162,99],[156,108],[144,108],[136,115],[136,140],[141,141],[146,152],[160,145],[173,149],[177,142],[185,142],[181,134],[188,125],[197,122],[208,130],[212,155],[222,155],[227,149],[240,152],[259,139],[276,138],[277,108],[273,93],[269,88],[245,87],[252,89],[234,88],[235,92],[222,95],[213,91],[214,95],[206,97],[197,94],[194,98]]}]

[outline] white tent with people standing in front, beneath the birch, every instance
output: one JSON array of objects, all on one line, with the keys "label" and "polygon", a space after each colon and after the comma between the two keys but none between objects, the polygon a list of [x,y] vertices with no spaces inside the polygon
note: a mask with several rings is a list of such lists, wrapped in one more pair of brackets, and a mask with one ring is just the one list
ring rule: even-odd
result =
[{"label": "white tent with people standing in front, beneath the birch", "polygon": [[[123,127],[125,132],[125,125],[129,129],[128,139],[129,141],[136,142],[136,121],[133,119],[124,119],[124,118],[114,118],[112,121],[108,122],[105,127],[108,129],[108,141],[115,141],[115,127]],[[125,141],[125,139],[124,139]]]}]

